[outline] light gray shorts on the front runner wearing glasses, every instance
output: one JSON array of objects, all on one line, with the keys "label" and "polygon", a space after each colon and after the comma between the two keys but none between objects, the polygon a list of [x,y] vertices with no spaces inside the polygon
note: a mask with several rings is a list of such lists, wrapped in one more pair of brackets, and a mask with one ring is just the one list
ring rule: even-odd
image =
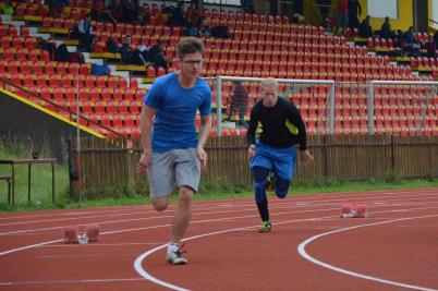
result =
[{"label": "light gray shorts on the front runner wearing glasses", "polygon": [[195,148],[154,153],[147,169],[150,198],[169,196],[175,186],[188,186],[197,192],[200,162]]}]

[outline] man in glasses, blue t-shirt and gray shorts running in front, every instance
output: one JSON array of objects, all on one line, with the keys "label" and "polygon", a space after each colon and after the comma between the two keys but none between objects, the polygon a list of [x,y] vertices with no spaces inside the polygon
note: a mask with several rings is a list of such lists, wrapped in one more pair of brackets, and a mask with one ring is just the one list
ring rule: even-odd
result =
[{"label": "man in glasses, blue t-shirt and gray shorts running in front", "polygon": [[[167,250],[167,262],[173,265],[187,263],[182,257],[180,242],[191,220],[192,197],[198,190],[200,167],[207,167],[204,146],[211,128],[211,89],[199,77],[204,50],[198,38],[180,40],[177,47],[179,72],[155,80],[143,98],[139,117],[143,155],[135,172],[147,171],[154,208],[157,211],[168,208],[170,194],[174,186],[179,187],[179,204]],[[200,113],[199,134],[195,130],[197,111]]]}]

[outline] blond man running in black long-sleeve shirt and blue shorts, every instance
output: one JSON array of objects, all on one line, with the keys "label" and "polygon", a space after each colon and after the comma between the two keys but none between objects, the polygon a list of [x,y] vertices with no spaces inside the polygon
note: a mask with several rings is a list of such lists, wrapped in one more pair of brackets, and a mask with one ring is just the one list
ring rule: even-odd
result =
[{"label": "blond man running in black long-sleeve shirt and blue shorts", "polygon": [[[259,232],[271,231],[267,179],[272,173],[276,195],[288,195],[296,159],[294,145],[300,145],[300,161],[312,162],[314,157],[307,150],[306,128],[299,109],[287,99],[278,97],[278,82],[275,78],[261,81],[261,100],[251,111],[246,135],[251,170],[254,178],[255,201],[261,218]],[[256,141],[256,130],[261,124],[263,132]]]}]

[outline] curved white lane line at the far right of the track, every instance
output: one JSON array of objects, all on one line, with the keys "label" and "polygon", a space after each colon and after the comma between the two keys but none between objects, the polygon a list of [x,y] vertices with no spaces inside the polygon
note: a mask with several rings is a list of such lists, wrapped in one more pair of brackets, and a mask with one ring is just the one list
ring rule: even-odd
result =
[{"label": "curved white lane line at the far right of the track", "polygon": [[302,242],[299,245],[297,251],[299,251],[299,253],[300,253],[300,255],[302,257],[304,257],[305,259],[307,259],[307,260],[309,260],[309,262],[312,262],[312,263],[314,263],[316,265],[319,265],[319,266],[328,268],[330,270],[342,272],[342,274],[345,274],[345,275],[349,275],[349,276],[353,276],[353,277],[357,277],[357,278],[362,278],[362,279],[366,279],[366,280],[372,280],[372,281],[376,281],[376,282],[380,282],[380,283],[386,283],[386,284],[391,284],[391,286],[397,286],[397,287],[403,287],[403,288],[407,288],[407,289],[423,290],[423,291],[438,291],[438,289],[430,289],[430,288],[425,288],[425,287],[419,287],[419,286],[414,286],[414,284],[407,284],[407,283],[386,280],[386,279],[382,279],[382,278],[378,278],[378,277],[374,277],[374,276],[369,276],[369,275],[364,275],[364,274],[351,271],[351,270],[348,270],[348,269],[342,269],[342,268],[336,267],[333,265],[324,263],[324,262],[311,256],[306,252],[306,246],[309,243],[312,243],[312,242],[314,242],[314,241],[316,241],[316,240],[318,240],[318,239],[320,239],[323,237],[327,237],[327,235],[330,235],[330,234],[333,234],[333,233],[354,230],[354,229],[358,229],[358,228],[380,226],[380,225],[386,225],[386,223],[406,221],[406,220],[414,220],[414,219],[431,218],[431,217],[438,217],[438,215],[428,215],[428,216],[417,216],[417,217],[406,217],[406,218],[391,219],[391,220],[386,220],[386,221],[380,221],[380,222],[375,222],[375,223],[361,225],[361,226],[354,226],[354,227],[343,228],[343,229],[339,229],[339,230],[328,231],[328,232],[320,233],[320,234],[314,235],[314,237],[305,240],[304,242]]}]

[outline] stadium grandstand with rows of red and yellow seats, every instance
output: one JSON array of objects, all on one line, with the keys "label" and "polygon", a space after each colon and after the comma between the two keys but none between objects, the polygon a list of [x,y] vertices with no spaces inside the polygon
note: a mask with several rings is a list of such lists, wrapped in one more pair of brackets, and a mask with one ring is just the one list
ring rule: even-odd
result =
[{"label": "stadium grandstand with rows of red and yellow seats", "polygon": [[309,134],[438,134],[435,0],[358,1],[368,36],[364,23],[336,29],[336,0],[1,2],[3,109],[13,98],[92,135],[138,138],[142,97],[178,70],[175,44],[194,35],[206,45],[211,135],[246,133],[229,112],[233,82],[248,92],[247,120],[261,77],[282,80]]}]

